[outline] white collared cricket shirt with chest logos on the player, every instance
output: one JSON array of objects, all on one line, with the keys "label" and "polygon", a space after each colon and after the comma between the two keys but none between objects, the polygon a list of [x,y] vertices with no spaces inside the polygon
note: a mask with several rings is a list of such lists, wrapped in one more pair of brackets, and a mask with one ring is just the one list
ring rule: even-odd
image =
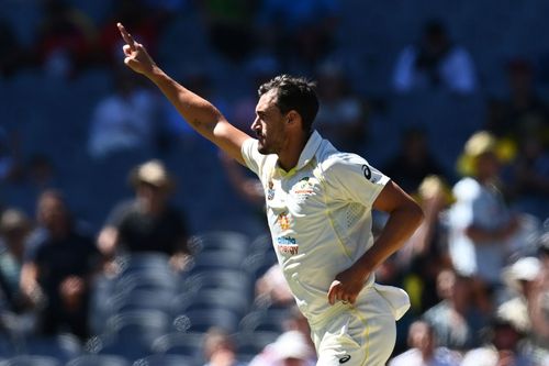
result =
[{"label": "white collared cricket shirt with chest logos on the player", "polygon": [[[277,155],[261,155],[257,140],[242,148],[265,188],[267,219],[288,284],[303,314],[315,323],[330,313],[327,292],[340,271],[373,244],[372,203],[389,178],[356,154],[338,152],[313,132],[290,171]],[[371,286],[373,276],[366,286]]]}]

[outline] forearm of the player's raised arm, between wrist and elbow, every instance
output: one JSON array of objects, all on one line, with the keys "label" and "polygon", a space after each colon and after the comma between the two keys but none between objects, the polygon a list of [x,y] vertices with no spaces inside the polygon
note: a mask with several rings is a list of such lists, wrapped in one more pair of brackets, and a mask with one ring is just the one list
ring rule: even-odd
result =
[{"label": "forearm of the player's raised arm, between wrist and elbow", "polygon": [[223,120],[223,115],[212,103],[186,89],[157,66],[147,77],[197,132],[213,140],[215,126]]}]

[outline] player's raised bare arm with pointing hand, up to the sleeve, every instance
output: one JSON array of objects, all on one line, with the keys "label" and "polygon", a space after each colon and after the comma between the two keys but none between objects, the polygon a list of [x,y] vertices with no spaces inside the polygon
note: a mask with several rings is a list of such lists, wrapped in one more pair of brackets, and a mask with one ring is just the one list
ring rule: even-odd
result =
[{"label": "player's raised bare arm with pointing hand, up to the sleeve", "polygon": [[123,47],[124,64],[153,81],[197,132],[244,164],[240,149],[244,141],[250,138],[249,135],[228,123],[208,100],[188,90],[164,73],[145,47],[135,42],[121,23],[117,26],[126,43]]}]

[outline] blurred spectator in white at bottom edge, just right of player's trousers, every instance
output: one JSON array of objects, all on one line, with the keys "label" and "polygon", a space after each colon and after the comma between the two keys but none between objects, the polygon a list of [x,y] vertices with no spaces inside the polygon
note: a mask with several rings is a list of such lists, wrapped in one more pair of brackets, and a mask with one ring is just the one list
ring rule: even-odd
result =
[{"label": "blurred spectator in white at bottom edge, just right of player's trousers", "polygon": [[461,361],[459,353],[439,347],[433,328],[421,320],[410,326],[408,345],[389,366],[459,366]]}]

